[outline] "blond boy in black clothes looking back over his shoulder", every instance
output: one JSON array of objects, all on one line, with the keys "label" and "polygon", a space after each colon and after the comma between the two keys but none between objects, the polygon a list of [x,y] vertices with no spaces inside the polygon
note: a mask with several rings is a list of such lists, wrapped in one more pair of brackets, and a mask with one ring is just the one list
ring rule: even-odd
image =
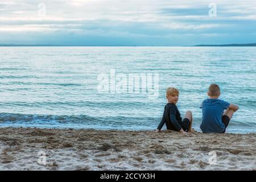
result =
[{"label": "blond boy in black clothes looking back over his shoulder", "polygon": [[177,109],[177,101],[179,100],[179,90],[176,88],[167,88],[166,98],[168,104],[164,107],[162,121],[159,123],[156,132],[160,132],[164,123],[166,123],[167,130],[180,131],[180,133],[191,132],[192,113],[187,111],[185,118],[182,120],[180,112]]}]

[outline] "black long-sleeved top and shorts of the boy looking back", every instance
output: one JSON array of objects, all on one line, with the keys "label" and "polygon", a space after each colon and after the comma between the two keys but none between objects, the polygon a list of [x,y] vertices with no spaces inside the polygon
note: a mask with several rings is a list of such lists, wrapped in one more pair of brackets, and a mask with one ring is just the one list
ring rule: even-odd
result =
[{"label": "black long-sleeved top and shorts of the boy looking back", "polygon": [[180,131],[181,128],[184,131],[188,131],[189,119],[180,117],[180,111],[175,104],[168,103],[164,107],[164,113],[162,121],[158,125],[158,130],[161,130],[164,123],[166,123],[167,130]]}]

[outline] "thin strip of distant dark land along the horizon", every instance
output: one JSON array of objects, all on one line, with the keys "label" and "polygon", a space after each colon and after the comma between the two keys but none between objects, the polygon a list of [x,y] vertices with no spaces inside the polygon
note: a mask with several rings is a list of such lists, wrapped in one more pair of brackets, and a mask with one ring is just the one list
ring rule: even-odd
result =
[{"label": "thin strip of distant dark land along the horizon", "polygon": [[256,47],[256,43],[251,44],[199,44],[196,46],[96,46],[96,45],[52,45],[52,44],[0,44],[0,47]]}]

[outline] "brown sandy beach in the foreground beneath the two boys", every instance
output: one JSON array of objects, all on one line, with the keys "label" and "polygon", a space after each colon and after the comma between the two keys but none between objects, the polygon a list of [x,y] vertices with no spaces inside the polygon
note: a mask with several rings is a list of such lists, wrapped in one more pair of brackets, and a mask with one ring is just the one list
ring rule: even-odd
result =
[{"label": "brown sandy beach in the foreground beneath the two boys", "polygon": [[[1,170],[256,170],[256,134],[0,128]],[[216,152],[216,163],[213,163]],[[46,153],[46,158],[40,154]],[[46,163],[44,164],[44,159]]]}]

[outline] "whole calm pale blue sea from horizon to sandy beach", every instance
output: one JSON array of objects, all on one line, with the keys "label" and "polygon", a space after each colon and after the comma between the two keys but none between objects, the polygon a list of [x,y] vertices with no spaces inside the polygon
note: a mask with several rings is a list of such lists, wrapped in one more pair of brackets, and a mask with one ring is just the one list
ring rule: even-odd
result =
[{"label": "whole calm pale blue sea from horizon to sandy beach", "polygon": [[[221,99],[240,106],[227,131],[255,133],[255,57],[256,47],[0,47],[0,127],[153,130],[175,86],[181,115],[191,110],[199,130],[214,82]],[[158,73],[159,96],[99,92],[98,76],[113,69]]]}]

